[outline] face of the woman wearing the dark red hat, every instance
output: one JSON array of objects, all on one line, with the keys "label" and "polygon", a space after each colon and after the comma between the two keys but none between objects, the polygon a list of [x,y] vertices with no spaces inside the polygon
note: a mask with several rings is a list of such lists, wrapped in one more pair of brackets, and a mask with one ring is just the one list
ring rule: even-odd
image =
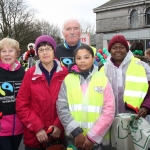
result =
[{"label": "face of the woman wearing the dark red hat", "polygon": [[111,57],[118,65],[121,64],[127,53],[126,47],[121,43],[115,43],[110,50]]}]

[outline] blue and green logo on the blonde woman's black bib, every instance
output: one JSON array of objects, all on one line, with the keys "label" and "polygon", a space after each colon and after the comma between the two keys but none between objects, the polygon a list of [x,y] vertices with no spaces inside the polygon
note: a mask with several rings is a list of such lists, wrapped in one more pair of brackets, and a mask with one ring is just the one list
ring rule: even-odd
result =
[{"label": "blue and green logo on the blonde woman's black bib", "polygon": [[6,93],[4,90],[13,92],[13,86],[8,83],[8,82],[4,82],[1,86],[0,86],[0,94],[3,96],[6,96]]}]

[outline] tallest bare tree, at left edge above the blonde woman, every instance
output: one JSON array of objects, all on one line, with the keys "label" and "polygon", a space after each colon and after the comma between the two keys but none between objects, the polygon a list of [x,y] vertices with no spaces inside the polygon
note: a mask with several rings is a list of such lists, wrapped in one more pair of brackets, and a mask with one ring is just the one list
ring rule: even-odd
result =
[{"label": "tallest bare tree, at left edge above the blonde woman", "polygon": [[26,51],[26,45],[40,35],[34,14],[23,0],[0,0],[0,38],[16,39]]}]

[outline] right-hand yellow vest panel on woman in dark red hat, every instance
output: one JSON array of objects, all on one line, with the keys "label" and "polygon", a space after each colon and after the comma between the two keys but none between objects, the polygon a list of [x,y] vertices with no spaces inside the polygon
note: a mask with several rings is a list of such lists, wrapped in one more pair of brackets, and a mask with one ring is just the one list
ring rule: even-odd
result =
[{"label": "right-hand yellow vest panel on woman in dark red hat", "polygon": [[132,57],[126,72],[124,102],[138,113],[147,90],[148,81],[145,69],[139,59]]}]

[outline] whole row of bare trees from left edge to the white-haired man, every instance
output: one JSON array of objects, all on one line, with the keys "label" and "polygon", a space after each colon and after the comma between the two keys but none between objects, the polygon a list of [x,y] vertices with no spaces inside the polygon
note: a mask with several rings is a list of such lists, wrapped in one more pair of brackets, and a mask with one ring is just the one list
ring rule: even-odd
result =
[{"label": "whole row of bare trees from left edge to the white-haired man", "polygon": [[51,35],[60,43],[59,27],[48,21],[35,20],[35,12],[24,0],[0,0],[0,39],[16,39],[20,43],[21,53],[27,50],[28,43],[34,43],[41,34]]}]

